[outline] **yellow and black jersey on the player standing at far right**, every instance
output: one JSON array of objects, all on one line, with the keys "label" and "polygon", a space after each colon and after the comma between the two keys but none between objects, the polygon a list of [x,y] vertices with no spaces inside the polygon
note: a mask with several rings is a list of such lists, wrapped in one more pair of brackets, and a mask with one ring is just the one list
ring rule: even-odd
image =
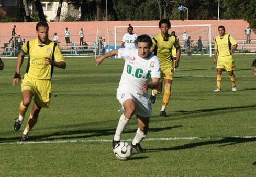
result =
[{"label": "yellow and black jersey on the player standing at far right", "polygon": [[218,56],[225,57],[230,54],[231,45],[235,45],[237,42],[233,39],[231,35],[224,34],[223,37],[215,37],[214,49],[218,50]]}]

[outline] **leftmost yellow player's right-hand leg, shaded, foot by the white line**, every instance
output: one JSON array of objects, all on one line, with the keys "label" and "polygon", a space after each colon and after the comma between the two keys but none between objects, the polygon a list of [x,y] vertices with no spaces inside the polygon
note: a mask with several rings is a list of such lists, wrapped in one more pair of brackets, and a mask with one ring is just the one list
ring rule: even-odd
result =
[{"label": "leftmost yellow player's right-hand leg, shaded, foot by the white line", "polygon": [[41,106],[39,106],[36,102],[33,105],[31,113],[28,117],[28,122],[25,130],[23,131],[23,136],[21,137],[21,141],[26,141],[28,139],[29,131],[35,126],[38,120],[38,115],[41,110]]}]

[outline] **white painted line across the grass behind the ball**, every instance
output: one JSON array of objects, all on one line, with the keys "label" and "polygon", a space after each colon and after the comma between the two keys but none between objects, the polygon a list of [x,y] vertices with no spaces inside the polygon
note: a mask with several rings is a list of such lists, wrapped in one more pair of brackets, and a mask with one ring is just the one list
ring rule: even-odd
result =
[{"label": "white painted line across the grass behind the ball", "polygon": [[[168,138],[147,138],[143,141],[169,141],[169,140],[225,140],[226,138],[256,138],[256,136],[232,136],[232,137],[168,137]],[[132,139],[127,139],[123,141],[132,141]],[[112,142],[112,140],[104,140],[104,139],[98,139],[98,140],[61,140],[61,141],[26,141],[26,142],[3,142],[0,143],[0,145],[4,144],[48,144],[48,143],[87,143],[87,142]]]}]

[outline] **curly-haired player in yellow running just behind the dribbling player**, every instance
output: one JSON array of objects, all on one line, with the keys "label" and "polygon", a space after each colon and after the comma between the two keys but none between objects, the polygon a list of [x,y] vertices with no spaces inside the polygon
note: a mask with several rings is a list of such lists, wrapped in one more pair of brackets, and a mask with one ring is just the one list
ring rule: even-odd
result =
[{"label": "curly-haired player in yellow running just behind the dribbling player", "polygon": [[[155,103],[156,96],[161,94],[164,82],[163,104],[160,110],[160,116],[168,116],[165,110],[171,96],[173,72],[174,68],[179,67],[179,60],[181,56],[179,41],[175,36],[168,33],[170,28],[171,23],[168,19],[162,19],[159,21],[159,29],[161,30],[161,33],[153,37],[153,46],[151,48],[151,52],[154,52],[160,60],[161,70],[160,84],[157,89],[152,90],[150,96],[151,103]],[[173,47],[176,48],[177,57],[175,62],[172,57]]]}]

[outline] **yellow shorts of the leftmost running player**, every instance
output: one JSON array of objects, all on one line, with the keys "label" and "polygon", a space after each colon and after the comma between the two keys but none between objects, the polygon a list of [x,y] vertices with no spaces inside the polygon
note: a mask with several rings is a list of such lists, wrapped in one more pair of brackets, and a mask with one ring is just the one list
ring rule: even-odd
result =
[{"label": "yellow shorts of the leftmost running player", "polygon": [[21,91],[31,90],[34,100],[41,107],[48,107],[51,98],[51,80],[30,78],[27,74],[21,82]]}]

